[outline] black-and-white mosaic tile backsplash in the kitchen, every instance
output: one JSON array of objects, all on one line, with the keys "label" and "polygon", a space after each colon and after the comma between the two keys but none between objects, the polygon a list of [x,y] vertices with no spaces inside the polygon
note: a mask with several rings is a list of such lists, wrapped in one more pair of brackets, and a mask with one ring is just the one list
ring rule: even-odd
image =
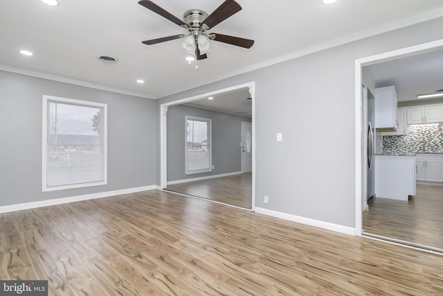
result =
[{"label": "black-and-white mosaic tile backsplash in the kitchen", "polygon": [[443,126],[409,125],[407,134],[383,136],[380,144],[383,153],[443,153]]}]

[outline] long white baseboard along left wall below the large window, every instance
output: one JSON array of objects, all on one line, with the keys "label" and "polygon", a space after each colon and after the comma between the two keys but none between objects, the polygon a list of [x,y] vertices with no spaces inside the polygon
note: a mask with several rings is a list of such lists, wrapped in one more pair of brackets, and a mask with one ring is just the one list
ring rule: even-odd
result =
[{"label": "long white baseboard along left wall below the large window", "polygon": [[21,211],[24,209],[35,209],[38,207],[48,207],[48,206],[53,206],[56,204],[67,204],[69,202],[80,202],[82,200],[93,200],[96,198],[107,198],[109,196],[121,195],[121,194],[127,194],[127,193],[136,193],[136,192],[147,191],[147,190],[152,190],[152,189],[156,189],[156,186],[155,185],[143,186],[143,187],[121,189],[121,190],[115,190],[115,191],[77,195],[77,196],[71,196],[69,198],[55,198],[55,199],[51,199],[51,200],[41,200],[38,202],[26,202],[24,204],[11,204],[8,206],[0,207],[0,214],[1,213],[8,213],[10,211]]}]

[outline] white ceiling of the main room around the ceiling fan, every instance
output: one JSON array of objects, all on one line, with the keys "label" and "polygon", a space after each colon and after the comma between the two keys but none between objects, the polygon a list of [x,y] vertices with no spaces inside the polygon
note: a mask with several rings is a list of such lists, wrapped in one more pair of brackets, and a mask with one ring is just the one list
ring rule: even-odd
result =
[{"label": "white ceiling of the main room around the ceiling fan", "polygon": [[[0,69],[147,98],[160,98],[237,73],[443,15],[442,0],[237,0],[243,10],[211,29],[255,40],[251,49],[211,42],[199,68],[187,64],[181,40],[143,40],[186,33],[137,0],[0,1]],[[181,18],[210,13],[223,0],[155,0]],[[273,4],[271,6],[271,3]],[[33,56],[20,55],[20,49]],[[111,55],[118,62],[98,60]],[[145,80],[143,85],[137,79]]]}]

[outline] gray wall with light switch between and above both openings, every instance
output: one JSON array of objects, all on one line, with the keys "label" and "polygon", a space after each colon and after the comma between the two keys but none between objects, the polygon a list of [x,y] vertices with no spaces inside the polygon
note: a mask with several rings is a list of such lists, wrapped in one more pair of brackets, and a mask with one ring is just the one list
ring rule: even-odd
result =
[{"label": "gray wall with light switch between and above both openings", "polygon": [[439,18],[336,46],[167,96],[157,109],[255,81],[255,206],[355,227],[355,60],[443,39],[442,27]]}]

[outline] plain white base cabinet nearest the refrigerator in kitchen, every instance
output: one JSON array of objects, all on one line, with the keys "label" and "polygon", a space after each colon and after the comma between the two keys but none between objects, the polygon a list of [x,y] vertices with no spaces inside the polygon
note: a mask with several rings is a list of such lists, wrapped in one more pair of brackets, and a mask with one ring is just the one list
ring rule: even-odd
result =
[{"label": "plain white base cabinet nearest the refrigerator in kitchen", "polygon": [[415,156],[375,155],[377,198],[408,200],[415,195]]}]

